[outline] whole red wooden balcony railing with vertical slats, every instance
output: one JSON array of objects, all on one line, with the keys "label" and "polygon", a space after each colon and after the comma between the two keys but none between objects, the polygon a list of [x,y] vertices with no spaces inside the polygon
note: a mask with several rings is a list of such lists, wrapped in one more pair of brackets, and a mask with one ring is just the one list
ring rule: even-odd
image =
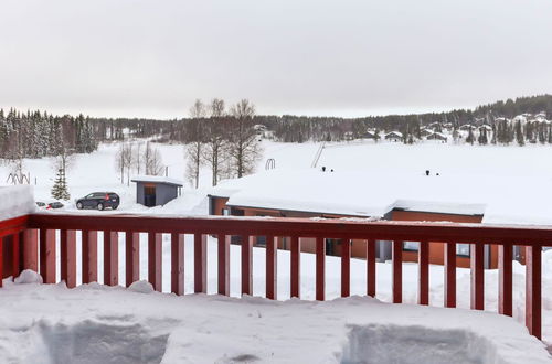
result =
[{"label": "whole red wooden balcony railing with vertical slats", "polygon": [[[240,218],[240,217],[150,217],[135,215],[33,214],[0,222],[0,242],[12,247],[13,271],[40,271],[46,283],[56,280],[56,234],[60,231],[61,279],[76,286],[76,244],[81,231],[82,281],[96,281],[97,232],[104,232],[104,282],[118,285],[118,234],[125,234],[126,286],[139,279],[139,235],[148,234],[148,280],[161,291],[161,237],[171,237],[171,291],[184,292],[183,234],[194,235],[194,291],[206,292],[206,236],[217,238],[217,292],[230,295],[230,238],[241,236],[242,282],[244,295],[252,290],[253,237],[266,236],[266,297],[277,298],[277,239],[290,237],[290,293],[300,298],[301,238],[316,238],[316,299],[325,299],[325,238],[367,242],[367,295],[375,296],[375,240],[392,240],[393,302],[402,302],[402,242],[420,242],[418,303],[429,302],[428,243],[445,243],[444,306],[456,307],[456,243],[471,244],[471,309],[482,310],[485,302],[484,245],[499,246],[499,313],[512,315],[512,248],[526,247],[526,324],[541,338],[541,250],[552,246],[552,227],[490,226],[481,224],[443,224],[413,222],[352,222],[342,220]],[[23,248],[21,248],[21,242]],[[102,242],[99,242],[102,243]],[[0,243],[1,244],[1,243]],[[341,296],[350,295],[348,244],[341,255]],[[0,249],[1,254],[2,249]],[[2,257],[0,257],[2,261]],[[0,267],[0,271],[2,268]],[[3,271],[1,271],[4,274]]]}]

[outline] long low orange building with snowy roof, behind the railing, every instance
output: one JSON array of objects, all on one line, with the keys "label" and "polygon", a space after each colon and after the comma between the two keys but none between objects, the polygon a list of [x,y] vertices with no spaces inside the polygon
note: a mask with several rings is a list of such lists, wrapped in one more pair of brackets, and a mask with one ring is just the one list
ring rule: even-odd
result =
[{"label": "long low orange building with snowy roof, behind the railing", "polygon": [[[370,181],[369,188],[367,181]],[[422,189],[416,191],[415,195],[431,195],[442,184],[440,179],[428,179],[425,175],[413,178],[412,182]],[[213,188],[209,194],[209,213],[223,216],[354,217],[457,223],[480,223],[484,217],[484,204],[396,200],[395,192],[392,195],[382,193],[385,190],[383,185],[386,184],[389,181],[374,180],[372,174],[363,172],[273,170],[223,181]],[[408,193],[410,190],[396,191],[400,196]],[[278,249],[290,248],[288,237],[276,238]],[[235,237],[232,242],[238,244],[241,237]],[[253,242],[255,246],[265,246],[266,237],[257,236]],[[300,242],[301,251],[316,251],[315,238],[301,237]],[[339,256],[342,244],[341,239],[326,239],[327,254]],[[350,244],[352,257],[365,257],[364,240],[353,239]],[[416,242],[403,243],[404,261],[416,261],[417,246]],[[497,246],[488,246],[486,249],[486,267],[496,268]],[[376,257],[380,261],[391,259],[390,242],[376,242]],[[443,243],[431,243],[429,263],[444,263]],[[469,267],[469,244],[457,244],[457,266]]]}]

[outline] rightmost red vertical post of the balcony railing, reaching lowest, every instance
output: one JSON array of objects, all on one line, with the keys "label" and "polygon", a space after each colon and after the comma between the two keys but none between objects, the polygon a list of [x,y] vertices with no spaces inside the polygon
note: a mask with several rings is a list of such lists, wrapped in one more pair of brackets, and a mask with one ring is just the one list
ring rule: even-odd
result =
[{"label": "rightmost red vertical post of the balcony railing, reaching lowest", "polygon": [[526,325],[529,333],[541,339],[541,246],[526,247]]}]

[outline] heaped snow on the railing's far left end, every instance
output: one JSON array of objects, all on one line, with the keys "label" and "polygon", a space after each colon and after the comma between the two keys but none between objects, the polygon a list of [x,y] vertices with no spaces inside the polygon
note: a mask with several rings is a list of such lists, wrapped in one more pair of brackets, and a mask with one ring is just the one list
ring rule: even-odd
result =
[{"label": "heaped snow on the railing's far left end", "polygon": [[0,221],[26,215],[36,211],[31,185],[0,186]]}]

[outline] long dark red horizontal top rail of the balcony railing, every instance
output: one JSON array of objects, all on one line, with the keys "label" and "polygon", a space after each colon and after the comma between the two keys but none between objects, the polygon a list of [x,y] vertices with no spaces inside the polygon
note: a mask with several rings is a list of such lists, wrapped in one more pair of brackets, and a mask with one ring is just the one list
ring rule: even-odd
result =
[{"label": "long dark red horizontal top rail of the balcony railing", "polygon": [[32,214],[31,228],[552,245],[552,226],[288,217]]}]

